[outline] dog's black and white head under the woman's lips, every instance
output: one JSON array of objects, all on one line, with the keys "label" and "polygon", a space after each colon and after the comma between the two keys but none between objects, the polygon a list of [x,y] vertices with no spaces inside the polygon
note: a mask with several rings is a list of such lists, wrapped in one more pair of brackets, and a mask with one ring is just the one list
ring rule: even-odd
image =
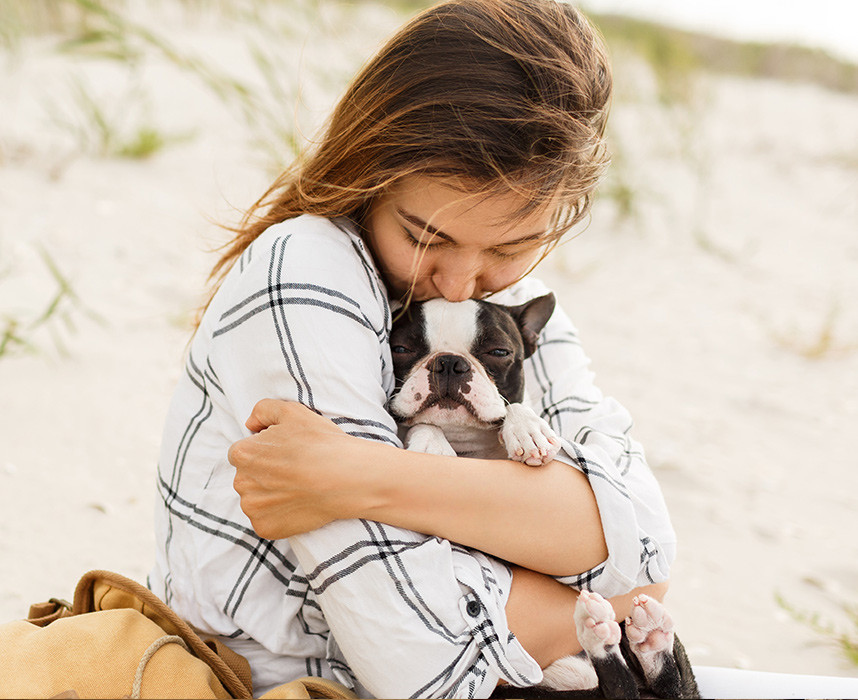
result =
[{"label": "dog's black and white head under the woman's lips", "polygon": [[474,299],[411,304],[390,334],[393,416],[406,425],[496,425],[506,406],[524,397],[524,360],[554,305],[553,294],[521,306]]}]

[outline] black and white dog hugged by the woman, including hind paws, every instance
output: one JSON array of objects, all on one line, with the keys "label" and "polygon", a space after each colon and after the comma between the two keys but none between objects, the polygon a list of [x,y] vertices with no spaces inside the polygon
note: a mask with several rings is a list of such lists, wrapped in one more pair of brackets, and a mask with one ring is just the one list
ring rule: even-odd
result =
[{"label": "black and white dog hugged by the woman, including hind paws", "polygon": [[[507,457],[534,467],[551,461],[560,443],[525,403],[524,360],[536,351],[554,306],[553,294],[514,307],[478,300],[411,304],[390,335],[396,390],[389,408],[405,446],[441,455]],[[686,696],[673,622],[657,600],[635,599],[625,635],[597,593],[581,591],[574,617],[585,653],[551,664],[541,687],[638,697],[631,663],[649,691]]]}]

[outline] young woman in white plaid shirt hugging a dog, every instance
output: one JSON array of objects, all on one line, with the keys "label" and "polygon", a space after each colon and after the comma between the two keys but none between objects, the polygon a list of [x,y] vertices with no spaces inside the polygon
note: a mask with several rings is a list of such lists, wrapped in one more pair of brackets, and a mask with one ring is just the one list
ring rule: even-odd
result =
[{"label": "young woman in white plaid shirt hugging a dog", "polygon": [[443,3],[238,228],[171,405],[149,583],[257,690],[485,697],[580,650],[576,589],[619,615],[664,594],[664,501],[562,311],[527,366],[554,462],[407,452],[385,409],[400,303],[543,291],[524,278],[589,209],[610,94],[572,6]]}]

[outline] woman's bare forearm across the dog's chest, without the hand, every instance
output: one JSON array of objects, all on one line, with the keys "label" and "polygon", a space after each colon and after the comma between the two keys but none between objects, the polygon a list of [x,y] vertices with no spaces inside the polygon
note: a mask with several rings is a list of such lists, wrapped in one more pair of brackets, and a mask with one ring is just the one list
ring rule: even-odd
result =
[{"label": "woman's bare forearm across the dog's chest, without the hand", "polygon": [[587,478],[562,462],[440,457],[362,441],[359,517],[436,535],[555,576],[607,556]]}]

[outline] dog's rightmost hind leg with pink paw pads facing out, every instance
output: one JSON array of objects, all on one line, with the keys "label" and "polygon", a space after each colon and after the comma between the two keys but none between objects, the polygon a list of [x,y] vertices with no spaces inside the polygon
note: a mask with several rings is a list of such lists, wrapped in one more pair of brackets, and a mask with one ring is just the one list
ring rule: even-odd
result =
[{"label": "dog's rightmost hind leg with pink paw pads facing out", "polygon": [[637,596],[626,619],[626,637],[650,690],[662,698],[682,697],[673,656],[673,620],[664,606],[647,595]]}]

